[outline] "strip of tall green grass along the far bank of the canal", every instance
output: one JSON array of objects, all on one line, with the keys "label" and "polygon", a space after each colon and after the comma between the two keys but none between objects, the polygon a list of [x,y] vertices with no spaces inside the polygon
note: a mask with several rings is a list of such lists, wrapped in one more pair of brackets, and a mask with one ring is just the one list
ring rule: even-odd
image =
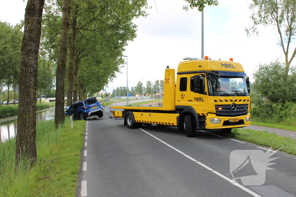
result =
[{"label": "strip of tall green grass along the far bank of the canal", "polygon": [[[41,102],[36,104],[36,110],[54,107],[55,102]],[[17,115],[18,105],[0,105],[0,118]]]}]

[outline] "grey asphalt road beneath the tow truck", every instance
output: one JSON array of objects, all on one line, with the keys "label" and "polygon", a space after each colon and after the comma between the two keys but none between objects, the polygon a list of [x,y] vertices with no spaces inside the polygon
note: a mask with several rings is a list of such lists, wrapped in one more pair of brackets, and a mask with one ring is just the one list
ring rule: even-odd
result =
[{"label": "grey asphalt road beneath the tow truck", "polygon": [[[110,115],[105,110],[103,118],[86,123],[77,197],[296,196],[295,156],[271,152],[279,158],[271,161],[274,170],[265,170],[264,147],[202,131],[187,138],[173,127],[128,129]],[[239,177],[254,175],[255,169],[251,182],[257,185],[232,181],[231,166],[247,154],[251,162],[238,170],[246,173]]]}]

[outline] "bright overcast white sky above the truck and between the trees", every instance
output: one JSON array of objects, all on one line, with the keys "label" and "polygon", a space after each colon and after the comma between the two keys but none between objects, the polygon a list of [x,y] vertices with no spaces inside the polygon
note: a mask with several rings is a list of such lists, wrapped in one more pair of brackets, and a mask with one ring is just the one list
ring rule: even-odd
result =
[{"label": "bright overcast white sky above the truck and between the trees", "polygon": [[[15,25],[24,19],[26,2],[0,0],[0,20]],[[184,57],[201,58],[201,12],[185,12],[184,0],[147,0],[152,9],[149,16],[135,19],[137,38],[129,42],[124,52],[128,56],[128,87],[144,80],[164,79],[166,66],[177,69]],[[260,63],[284,60],[284,53],[277,45],[279,35],[274,27],[260,27],[259,36],[247,37],[244,29],[251,27],[249,1],[219,0],[218,6],[204,10],[204,53],[211,59],[240,62],[250,78]],[[155,7],[156,4],[156,7]],[[156,8],[156,9],[155,9]],[[157,13],[158,12],[158,13]],[[295,42],[291,47],[295,48]],[[295,65],[295,60],[292,61]],[[113,88],[126,86],[126,67],[117,74]],[[251,79],[252,81],[252,79]],[[109,83],[107,92],[112,92]]]}]

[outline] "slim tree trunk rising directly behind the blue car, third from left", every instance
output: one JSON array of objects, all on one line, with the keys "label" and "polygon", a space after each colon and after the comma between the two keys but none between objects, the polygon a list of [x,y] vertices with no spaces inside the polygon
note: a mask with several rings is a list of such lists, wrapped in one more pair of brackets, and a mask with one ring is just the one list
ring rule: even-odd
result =
[{"label": "slim tree trunk rising directly behind the blue car, third from left", "polygon": [[73,69],[75,64],[75,39],[76,39],[76,19],[77,19],[77,8],[72,17],[72,35],[70,43],[70,55],[69,55],[69,69],[68,69],[68,92],[67,92],[67,106],[72,105],[73,96]]}]

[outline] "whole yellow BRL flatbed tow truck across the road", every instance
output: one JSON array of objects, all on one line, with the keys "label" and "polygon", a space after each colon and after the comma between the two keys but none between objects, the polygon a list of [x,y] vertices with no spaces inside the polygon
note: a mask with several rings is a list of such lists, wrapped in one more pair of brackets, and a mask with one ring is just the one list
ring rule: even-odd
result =
[{"label": "whole yellow BRL flatbed tow truck across the road", "polygon": [[229,61],[184,58],[175,69],[165,69],[162,105],[112,106],[110,118],[124,119],[128,128],[142,124],[178,127],[193,137],[195,130],[222,129],[251,124],[250,81],[242,64]]}]

